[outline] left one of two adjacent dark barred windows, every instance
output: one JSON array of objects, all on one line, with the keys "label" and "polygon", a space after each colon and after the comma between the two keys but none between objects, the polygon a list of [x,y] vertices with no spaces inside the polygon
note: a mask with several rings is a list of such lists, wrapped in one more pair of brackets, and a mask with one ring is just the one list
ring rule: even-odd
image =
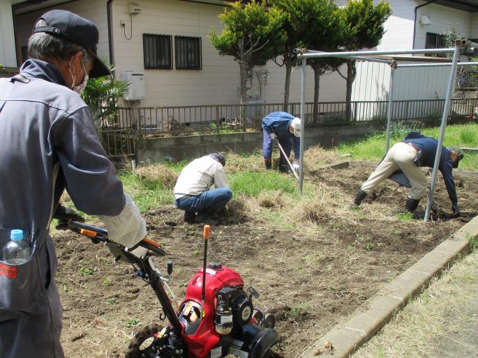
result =
[{"label": "left one of two adjacent dark barred windows", "polygon": [[145,70],[172,70],[172,36],[143,33]]}]

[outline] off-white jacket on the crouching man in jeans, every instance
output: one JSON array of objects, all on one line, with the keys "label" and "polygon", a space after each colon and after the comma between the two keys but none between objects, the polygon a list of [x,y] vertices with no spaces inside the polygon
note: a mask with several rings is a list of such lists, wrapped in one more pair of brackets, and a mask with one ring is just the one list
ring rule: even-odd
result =
[{"label": "off-white jacket on the crouching man in jeans", "polygon": [[184,195],[199,195],[213,184],[216,188],[229,187],[222,164],[205,155],[194,159],[181,171],[174,186],[174,197],[179,199]]}]

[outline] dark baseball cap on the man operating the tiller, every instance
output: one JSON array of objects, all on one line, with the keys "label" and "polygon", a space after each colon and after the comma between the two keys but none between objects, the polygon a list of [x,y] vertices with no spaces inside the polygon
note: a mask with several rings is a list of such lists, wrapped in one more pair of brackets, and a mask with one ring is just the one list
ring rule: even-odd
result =
[{"label": "dark baseball cap on the man operating the tiller", "polygon": [[33,29],[33,33],[46,32],[64,38],[80,45],[93,56],[94,63],[89,72],[89,77],[97,78],[111,75],[105,63],[96,55],[99,33],[93,22],[66,10],[50,10],[40,16],[36,22],[39,20],[44,20],[46,24]]}]

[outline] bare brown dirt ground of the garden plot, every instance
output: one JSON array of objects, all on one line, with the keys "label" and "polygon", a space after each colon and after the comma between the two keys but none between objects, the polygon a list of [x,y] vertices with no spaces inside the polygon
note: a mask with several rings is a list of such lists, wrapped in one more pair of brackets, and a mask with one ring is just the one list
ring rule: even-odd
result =
[{"label": "bare brown dirt ground of the garden plot", "polygon": [[[348,210],[347,203],[373,166],[352,162],[347,169],[309,173],[306,180],[328,188],[327,198],[340,194],[341,199],[322,203],[327,210],[308,215],[299,226],[274,226],[266,219],[231,214],[212,228],[209,260],[237,270],[246,286],[261,293],[255,306],[276,316],[282,339],[274,348],[278,357],[295,357],[477,215],[478,183],[467,176],[456,178],[461,219],[403,219],[399,213],[408,191],[389,181],[359,210]],[[441,176],[436,202],[450,212]],[[424,210],[424,203],[419,209]],[[181,299],[188,280],[202,267],[202,226],[184,224],[173,205],[149,211],[146,219],[149,238],[169,252],[159,267],[165,271],[166,259],[174,261],[172,288]],[[59,257],[66,357],[122,357],[137,329],[162,324],[158,300],[134,277],[132,267],[114,263],[105,247],[79,235],[54,231],[52,236]]]}]

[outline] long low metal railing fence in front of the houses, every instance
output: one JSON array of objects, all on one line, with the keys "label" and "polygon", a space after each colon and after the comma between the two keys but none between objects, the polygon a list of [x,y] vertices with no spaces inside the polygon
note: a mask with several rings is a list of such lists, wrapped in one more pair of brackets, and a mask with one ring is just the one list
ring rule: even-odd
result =
[{"label": "long low metal railing fence in front of the houses", "polygon": [[[392,120],[440,120],[445,100],[400,100],[392,104]],[[287,111],[300,115],[300,103],[290,103]],[[387,120],[387,101],[354,101],[351,118],[345,117],[345,102],[306,103],[309,127],[347,125]],[[462,117],[475,112],[477,98],[452,100],[449,116]],[[214,104],[203,106],[118,108],[114,115],[101,120],[98,131],[103,147],[111,157],[134,155],[139,136],[177,136],[203,133],[228,133],[260,130],[262,118],[273,111],[283,111],[283,103]],[[241,113],[244,117],[241,117]],[[244,118],[244,119],[241,119]]]}]

